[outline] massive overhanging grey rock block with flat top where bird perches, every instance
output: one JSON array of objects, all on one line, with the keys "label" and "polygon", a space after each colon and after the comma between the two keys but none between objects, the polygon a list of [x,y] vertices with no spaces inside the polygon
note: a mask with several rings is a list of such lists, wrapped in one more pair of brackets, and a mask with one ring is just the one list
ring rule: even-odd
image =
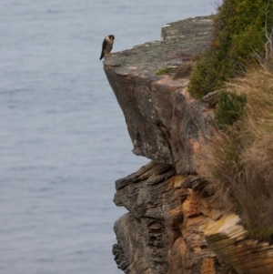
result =
[{"label": "massive overhanging grey rock block with flat top where bird perches", "polygon": [[104,62],[126,117],[133,152],[173,165],[181,174],[200,172],[200,146],[210,136],[213,112],[207,103],[188,95],[187,77],[173,76],[178,66],[207,48],[211,25],[210,17],[165,25],[163,41],[135,46]]}]

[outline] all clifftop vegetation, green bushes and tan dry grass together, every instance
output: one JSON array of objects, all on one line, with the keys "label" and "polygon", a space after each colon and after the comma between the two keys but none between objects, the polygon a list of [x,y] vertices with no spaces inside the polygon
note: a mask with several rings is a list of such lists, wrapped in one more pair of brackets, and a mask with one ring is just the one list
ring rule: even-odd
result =
[{"label": "all clifftop vegetation, green bushes and tan dry grass together", "polygon": [[249,236],[272,242],[273,1],[223,0],[214,26],[189,85],[196,98],[221,89],[207,176],[216,197],[244,219]]}]

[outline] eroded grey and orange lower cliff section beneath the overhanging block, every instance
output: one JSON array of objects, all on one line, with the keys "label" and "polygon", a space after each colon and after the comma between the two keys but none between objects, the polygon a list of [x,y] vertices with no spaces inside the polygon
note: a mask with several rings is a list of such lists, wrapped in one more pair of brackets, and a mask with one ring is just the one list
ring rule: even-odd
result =
[{"label": "eroded grey and orange lower cliff section beneath the overhanging block", "polygon": [[128,274],[227,274],[204,237],[222,216],[204,183],[154,161],[116,181],[116,206],[129,210],[114,227],[117,267]]}]

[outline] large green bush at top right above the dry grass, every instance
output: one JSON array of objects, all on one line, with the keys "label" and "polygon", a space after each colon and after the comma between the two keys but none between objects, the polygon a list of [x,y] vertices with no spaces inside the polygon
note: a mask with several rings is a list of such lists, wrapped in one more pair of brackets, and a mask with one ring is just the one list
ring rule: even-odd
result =
[{"label": "large green bush at top right above the dry grass", "polygon": [[197,61],[189,92],[200,98],[241,75],[246,63],[256,62],[265,51],[265,27],[273,25],[273,1],[223,0],[214,17],[214,38]]}]

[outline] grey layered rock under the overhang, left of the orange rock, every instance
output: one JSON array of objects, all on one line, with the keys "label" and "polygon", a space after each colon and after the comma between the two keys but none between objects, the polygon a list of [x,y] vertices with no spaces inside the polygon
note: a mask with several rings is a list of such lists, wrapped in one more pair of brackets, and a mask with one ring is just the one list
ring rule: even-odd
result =
[{"label": "grey layered rock under the overhang, left of the orange rock", "polygon": [[168,236],[164,216],[178,201],[169,178],[170,165],[150,162],[136,173],[116,181],[116,206],[129,213],[115,224],[113,248],[117,266],[125,273],[167,273]]}]

